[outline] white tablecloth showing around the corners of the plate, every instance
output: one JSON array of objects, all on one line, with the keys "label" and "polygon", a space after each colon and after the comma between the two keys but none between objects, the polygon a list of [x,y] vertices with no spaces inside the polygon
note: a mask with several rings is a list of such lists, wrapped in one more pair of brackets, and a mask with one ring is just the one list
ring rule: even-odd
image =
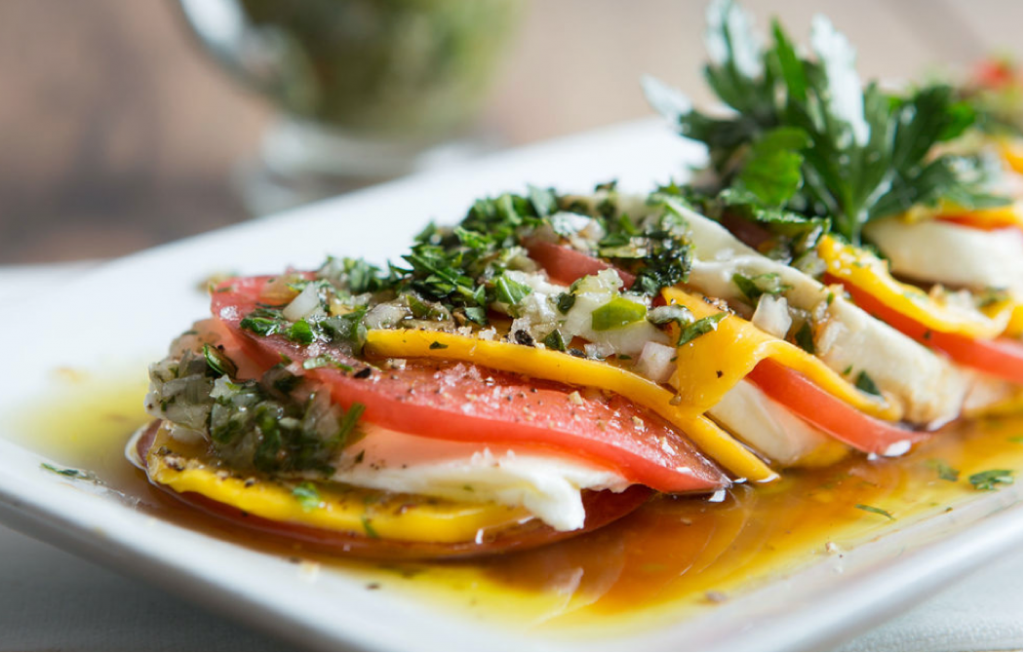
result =
[{"label": "white tablecloth showing around the corners of the plate", "polygon": [[[39,292],[89,265],[0,268],[0,300]],[[1022,650],[1022,590],[1024,552],[992,561],[835,653]],[[292,649],[0,526],[0,651],[42,650]]]}]

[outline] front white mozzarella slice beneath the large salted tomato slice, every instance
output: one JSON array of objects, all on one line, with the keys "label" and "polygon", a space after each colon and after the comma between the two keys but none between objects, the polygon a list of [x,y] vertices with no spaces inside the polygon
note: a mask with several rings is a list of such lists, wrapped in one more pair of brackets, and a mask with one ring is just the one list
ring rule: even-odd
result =
[{"label": "front white mozzarella slice beneath the large salted tomato slice", "polygon": [[557,530],[583,527],[583,490],[621,492],[630,485],[614,471],[550,451],[492,450],[378,427],[342,453],[332,478],[391,492],[522,507]]}]

